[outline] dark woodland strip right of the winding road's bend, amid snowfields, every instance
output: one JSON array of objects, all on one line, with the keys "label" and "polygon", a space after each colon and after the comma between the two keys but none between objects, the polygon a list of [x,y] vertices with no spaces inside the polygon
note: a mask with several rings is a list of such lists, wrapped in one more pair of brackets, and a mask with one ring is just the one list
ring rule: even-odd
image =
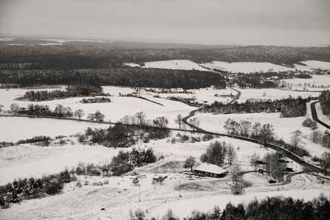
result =
[{"label": "dark woodland strip right of the winding road's bend, amid snowfields", "polygon": [[234,102],[231,105],[215,101],[210,105],[204,105],[201,111],[214,114],[281,112],[281,118],[292,118],[305,116],[307,112],[306,103],[310,100],[311,98],[301,98],[299,96],[298,98],[281,100],[246,100],[243,103]]}]

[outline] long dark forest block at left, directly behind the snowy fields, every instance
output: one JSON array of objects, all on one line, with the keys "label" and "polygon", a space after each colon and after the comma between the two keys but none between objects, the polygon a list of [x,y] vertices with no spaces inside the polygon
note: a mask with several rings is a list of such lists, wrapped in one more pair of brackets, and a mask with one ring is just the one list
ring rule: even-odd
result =
[{"label": "long dark forest block at left, directly behind the snowy fields", "polygon": [[35,87],[38,85],[123,86],[199,89],[221,83],[223,76],[212,72],[179,69],[76,69],[57,71],[54,69],[0,69],[3,87]]}]

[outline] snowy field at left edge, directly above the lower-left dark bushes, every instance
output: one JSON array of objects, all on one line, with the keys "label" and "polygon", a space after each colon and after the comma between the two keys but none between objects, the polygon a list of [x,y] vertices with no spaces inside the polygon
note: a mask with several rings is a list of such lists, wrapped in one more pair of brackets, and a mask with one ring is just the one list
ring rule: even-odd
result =
[{"label": "snowy field at left edge, directly above the lower-left dark bushes", "polygon": [[[65,139],[65,138],[64,138]],[[75,138],[76,139],[76,138]],[[16,146],[14,148],[3,148],[1,152],[1,166],[6,160],[14,160],[12,164],[5,168],[0,168],[0,185],[6,184],[18,178],[41,177],[43,174],[59,173],[67,166],[71,168],[78,162],[89,162],[98,164],[99,162],[110,162],[113,155],[117,155],[120,148],[107,148],[104,146],[89,146],[88,144],[77,144],[67,146]],[[22,148],[25,155],[17,156]],[[42,152],[38,148],[44,148]],[[55,149],[54,149],[55,148]],[[57,149],[56,149],[57,148]],[[14,151],[17,152],[14,152]],[[127,149],[125,149],[126,151]],[[35,158],[39,155],[39,158]],[[28,157],[32,157],[29,159]],[[34,158],[33,158],[34,157]]]}]

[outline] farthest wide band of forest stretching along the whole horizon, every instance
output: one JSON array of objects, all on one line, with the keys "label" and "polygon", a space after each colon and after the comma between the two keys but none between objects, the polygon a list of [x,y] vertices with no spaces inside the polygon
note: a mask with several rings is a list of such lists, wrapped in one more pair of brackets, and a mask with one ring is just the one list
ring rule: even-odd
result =
[{"label": "farthest wide band of forest stretching along the whole horizon", "polygon": [[[133,43],[134,44],[134,43]],[[137,43],[138,44],[138,43]],[[122,67],[122,63],[144,63],[186,59],[196,63],[270,62],[292,65],[300,61],[330,61],[330,47],[278,47],[278,46],[214,46],[214,49],[149,49],[115,47],[115,44],[94,45],[11,45],[0,50],[0,67],[32,69],[103,69]],[[132,49],[135,47],[135,49]],[[181,46],[180,46],[181,47]],[[144,47],[146,48],[146,47]],[[158,47],[159,48],[159,47]]]}]

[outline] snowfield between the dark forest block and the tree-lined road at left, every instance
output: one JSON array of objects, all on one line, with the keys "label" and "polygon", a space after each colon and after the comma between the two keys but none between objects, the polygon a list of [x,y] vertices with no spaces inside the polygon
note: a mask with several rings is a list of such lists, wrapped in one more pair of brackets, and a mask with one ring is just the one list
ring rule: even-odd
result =
[{"label": "snowfield between the dark forest block and the tree-lined road at left", "polygon": [[133,89],[129,89],[127,87],[103,87],[103,89],[104,93],[115,95],[114,97],[111,97],[111,102],[83,104],[79,102],[83,98],[26,102],[14,100],[14,98],[23,96],[26,91],[25,89],[9,89],[9,91],[0,89],[0,103],[4,106],[3,110],[10,110],[10,104],[12,103],[17,103],[20,107],[28,107],[28,104],[30,103],[47,104],[52,110],[55,109],[57,104],[63,104],[64,107],[71,107],[73,111],[76,109],[83,109],[85,113],[83,119],[87,118],[88,113],[94,113],[96,110],[99,110],[101,113],[104,113],[104,120],[110,120],[111,122],[117,122],[120,118],[124,117],[124,115],[134,115],[139,111],[143,111],[146,113],[146,120],[153,120],[159,116],[165,116],[168,118],[168,126],[175,128],[177,127],[177,124],[175,124],[174,120],[178,114],[188,115],[190,111],[196,109],[195,107],[189,107],[181,102],[161,98],[148,97],[149,99],[153,99],[155,102],[164,104],[164,106],[149,102],[147,100],[142,100],[140,98],[120,97],[119,93],[129,94],[133,91]]}]

